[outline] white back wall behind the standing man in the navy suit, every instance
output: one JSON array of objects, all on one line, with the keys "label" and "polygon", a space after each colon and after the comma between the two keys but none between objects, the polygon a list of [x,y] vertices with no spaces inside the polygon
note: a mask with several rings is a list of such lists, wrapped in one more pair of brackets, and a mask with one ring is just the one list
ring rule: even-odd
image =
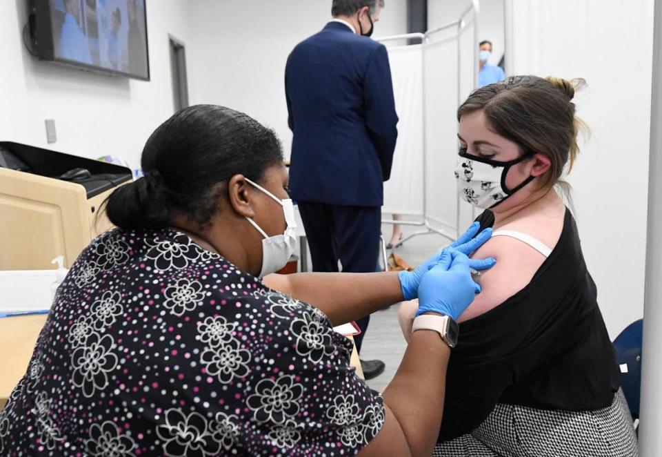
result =
[{"label": "white back wall behind the standing man in the navy suit", "polygon": [[[196,0],[190,3],[194,49],[188,53],[192,104],[243,111],[268,125],[290,155],[285,63],[292,48],[331,19],[331,0]],[[374,37],[407,31],[405,0],[386,0]]]}]

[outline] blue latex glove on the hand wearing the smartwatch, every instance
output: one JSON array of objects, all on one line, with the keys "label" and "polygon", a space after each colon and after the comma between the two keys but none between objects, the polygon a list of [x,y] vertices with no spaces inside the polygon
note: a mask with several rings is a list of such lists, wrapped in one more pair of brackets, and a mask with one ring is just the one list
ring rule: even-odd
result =
[{"label": "blue latex glove on the hand wearing the smartwatch", "polygon": [[416,315],[432,311],[457,320],[480,291],[479,284],[471,278],[469,257],[449,249],[423,275]]}]

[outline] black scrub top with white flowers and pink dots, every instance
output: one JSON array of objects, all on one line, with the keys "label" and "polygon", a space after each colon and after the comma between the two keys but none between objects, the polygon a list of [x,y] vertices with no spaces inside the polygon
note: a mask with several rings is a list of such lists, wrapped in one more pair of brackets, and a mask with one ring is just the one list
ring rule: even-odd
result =
[{"label": "black scrub top with white flowers and pink dots", "polygon": [[1,456],[352,456],[384,422],[321,311],[176,231],[101,235],[0,411]]}]

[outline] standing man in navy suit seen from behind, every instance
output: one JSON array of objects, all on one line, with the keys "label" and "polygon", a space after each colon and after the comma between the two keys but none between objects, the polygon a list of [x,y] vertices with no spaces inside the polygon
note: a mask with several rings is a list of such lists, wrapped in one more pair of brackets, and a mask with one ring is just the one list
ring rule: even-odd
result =
[{"label": "standing man in navy suit seen from behind", "polygon": [[[398,117],[386,48],[368,38],[383,0],[333,0],[334,19],[297,45],[285,69],[294,133],[292,199],[299,204],[314,271],[375,271],[383,182]],[[338,291],[342,300],[342,291]],[[359,320],[361,350],[370,316]],[[363,361],[365,377],[383,371]]]}]

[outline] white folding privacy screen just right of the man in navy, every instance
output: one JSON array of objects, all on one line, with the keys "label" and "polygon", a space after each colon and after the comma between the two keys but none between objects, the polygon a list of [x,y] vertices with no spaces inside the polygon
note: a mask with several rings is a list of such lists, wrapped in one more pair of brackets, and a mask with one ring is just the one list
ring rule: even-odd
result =
[{"label": "white folding privacy screen just right of the man in navy", "polygon": [[425,35],[380,40],[388,46],[400,117],[383,213],[402,216],[383,222],[423,226],[410,237],[435,232],[454,239],[474,219],[472,206],[457,197],[454,168],[457,107],[477,85],[476,14],[472,7]]}]

